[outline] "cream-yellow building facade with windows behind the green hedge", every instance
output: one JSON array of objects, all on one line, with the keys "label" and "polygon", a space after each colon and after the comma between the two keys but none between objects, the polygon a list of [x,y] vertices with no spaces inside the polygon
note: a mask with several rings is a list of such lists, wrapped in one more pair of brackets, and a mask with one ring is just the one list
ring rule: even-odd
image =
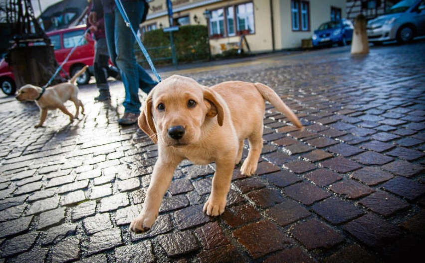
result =
[{"label": "cream-yellow building facade with windows behind the green hedge", "polygon": [[142,31],[208,25],[213,54],[237,45],[242,35],[254,53],[298,48],[322,22],[346,17],[345,0],[172,0],[172,19],[166,0],[149,4]]}]

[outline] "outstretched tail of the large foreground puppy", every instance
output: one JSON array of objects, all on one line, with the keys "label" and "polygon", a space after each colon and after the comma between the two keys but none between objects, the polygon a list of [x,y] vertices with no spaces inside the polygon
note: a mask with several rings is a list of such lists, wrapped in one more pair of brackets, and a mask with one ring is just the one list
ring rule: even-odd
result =
[{"label": "outstretched tail of the large foreground puppy", "polygon": [[254,85],[258,92],[260,92],[261,96],[263,96],[265,100],[269,101],[278,111],[285,114],[285,116],[288,117],[288,119],[293,124],[295,124],[295,126],[300,129],[304,128],[298,117],[288,106],[286,106],[286,104],[279,98],[279,95],[277,95],[274,90],[262,83],[255,83]]}]

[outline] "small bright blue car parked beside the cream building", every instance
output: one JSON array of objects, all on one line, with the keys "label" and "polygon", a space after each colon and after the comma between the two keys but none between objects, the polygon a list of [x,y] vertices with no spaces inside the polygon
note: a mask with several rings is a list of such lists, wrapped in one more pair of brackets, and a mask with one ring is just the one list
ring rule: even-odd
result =
[{"label": "small bright blue car parked beside the cream building", "polygon": [[341,19],[321,24],[311,37],[313,46],[341,46],[351,42],[354,26],[350,20]]}]

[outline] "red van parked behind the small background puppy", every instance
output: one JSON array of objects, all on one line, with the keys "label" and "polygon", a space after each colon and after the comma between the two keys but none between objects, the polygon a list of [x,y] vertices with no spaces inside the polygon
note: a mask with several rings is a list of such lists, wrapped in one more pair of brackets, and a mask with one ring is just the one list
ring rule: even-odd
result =
[{"label": "red van parked behind the small background puppy", "polygon": [[[68,76],[73,76],[85,65],[93,65],[94,57],[94,41],[86,41],[83,37],[86,25],[78,25],[65,29],[47,32],[53,45],[54,54],[57,62],[62,64],[63,60],[68,56],[71,49],[78,44],[77,48],[69,57],[68,61],[62,66]],[[91,68],[86,70],[84,74],[77,78],[79,85],[87,84],[90,81],[92,73]],[[60,72],[63,77],[66,77],[63,72]],[[110,65],[108,75],[117,77],[118,70]],[[12,68],[4,59],[0,62],[0,85],[1,90],[7,95],[13,95],[16,92],[15,78]]]}]

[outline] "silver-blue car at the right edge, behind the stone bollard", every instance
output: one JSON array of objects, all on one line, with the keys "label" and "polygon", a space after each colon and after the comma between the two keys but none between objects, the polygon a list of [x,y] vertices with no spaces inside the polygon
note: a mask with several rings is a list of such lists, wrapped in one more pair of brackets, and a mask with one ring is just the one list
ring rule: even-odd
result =
[{"label": "silver-blue car at the right edge, behind the stone bollard", "polygon": [[399,43],[425,35],[425,0],[402,0],[390,10],[367,24],[369,42],[379,45],[386,41]]}]

